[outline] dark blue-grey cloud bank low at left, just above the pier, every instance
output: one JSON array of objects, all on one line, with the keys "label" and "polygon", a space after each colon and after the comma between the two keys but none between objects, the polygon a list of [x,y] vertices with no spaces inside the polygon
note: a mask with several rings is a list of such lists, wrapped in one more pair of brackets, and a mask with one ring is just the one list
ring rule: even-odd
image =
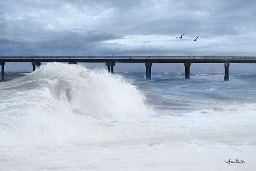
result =
[{"label": "dark blue-grey cloud bank low at left, just above the pier", "polygon": [[[29,33],[27,34],[29,35]],[[65,30],[46,32],[43,35],[30,35],[33,39],[0,39],[1,52],[13,55],[84,55],[97,49],[101,53],[102,43],[108,39],[120,39],[120,36],[98,31]],[[28,37],[30,37],[28,36]],[[17,51],[17,49],[19,49]],[[104,52],[102,52],[103,54]]]}]

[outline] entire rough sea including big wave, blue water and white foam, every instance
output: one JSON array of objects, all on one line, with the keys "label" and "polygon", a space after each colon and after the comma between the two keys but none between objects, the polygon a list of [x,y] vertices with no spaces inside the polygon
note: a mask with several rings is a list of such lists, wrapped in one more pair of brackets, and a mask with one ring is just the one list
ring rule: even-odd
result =
[{"label": "entire rough sea including big wave, blue water and white foam", "polygon": [[256,170],[256,75],[152,74],[60,63],[7,73],[0,170]]}]

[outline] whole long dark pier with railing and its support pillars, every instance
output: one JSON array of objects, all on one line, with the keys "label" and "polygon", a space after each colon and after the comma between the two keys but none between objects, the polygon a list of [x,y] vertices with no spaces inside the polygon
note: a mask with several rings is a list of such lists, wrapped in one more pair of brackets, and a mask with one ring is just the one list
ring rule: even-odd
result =
[{"label": "whole long dark pier with railing and its support pillars", "polygon": [[191,63],[223,63],[224,81],[229,80],[230,63],[256,63],[254,56],[0,56],[1,80],[4,80],[4,66],[6,62],[31,62],[33,71],[41,62],[104,62],[108,72],[114,72],[116,63],[145,63],[146,79],[151,79],[153,63],[184,63],[185,79],[190,79]]}]

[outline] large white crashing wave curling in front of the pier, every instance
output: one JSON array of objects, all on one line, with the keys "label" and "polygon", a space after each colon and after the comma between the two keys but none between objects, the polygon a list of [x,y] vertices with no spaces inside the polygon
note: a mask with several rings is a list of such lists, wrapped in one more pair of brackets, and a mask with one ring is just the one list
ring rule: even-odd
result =
[{"label": "large white crashing wave curling in front of the pier", "polygon": [[150,112],[121,76],[79,65],[48,63],[0,87],[0,145],[117,140],[111,122]]}]

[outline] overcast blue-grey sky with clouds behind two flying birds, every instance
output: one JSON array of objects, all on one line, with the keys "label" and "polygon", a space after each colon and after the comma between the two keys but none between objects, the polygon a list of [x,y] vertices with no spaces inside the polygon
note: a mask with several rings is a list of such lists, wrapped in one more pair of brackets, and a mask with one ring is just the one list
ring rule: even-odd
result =
[{"label": "overcast blue-grey sky with clouds behind two flying birds", "polygon": [[0,55],[256,56],[256,1],[0,0],[0,32]]}]

